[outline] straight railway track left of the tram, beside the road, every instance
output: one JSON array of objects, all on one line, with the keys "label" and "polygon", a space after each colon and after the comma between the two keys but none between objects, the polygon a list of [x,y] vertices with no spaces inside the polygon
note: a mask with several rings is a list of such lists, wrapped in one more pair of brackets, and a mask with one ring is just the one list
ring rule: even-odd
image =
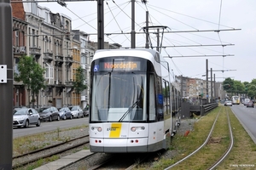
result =
[{"label": "straight railway track left of the tram, beside the road", "polygon": [[12,169],[24,167],[28,164],[31,164],[32,162],[61,154],[67,150],[73,150],[88,143],[89,135],[84,135],[79,138],[70,139],[59,144],[53,144],[39,150],[33,150],[20,156],[14,156]]}]

